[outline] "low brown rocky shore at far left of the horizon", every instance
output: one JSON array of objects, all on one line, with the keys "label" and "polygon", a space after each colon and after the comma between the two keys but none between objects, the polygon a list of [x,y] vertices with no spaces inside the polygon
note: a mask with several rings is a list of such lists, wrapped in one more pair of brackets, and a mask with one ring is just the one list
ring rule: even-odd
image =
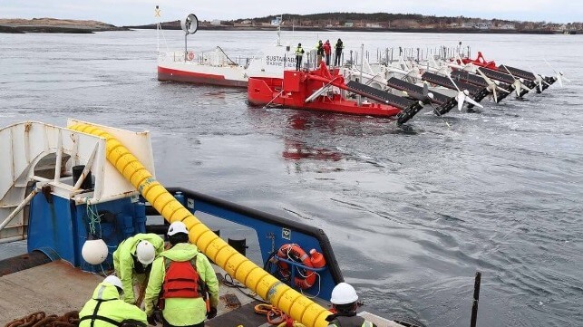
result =
[{"label": "low brown rocky shore at far left of the horizon", "polygon": [[92,34],[94,32],[129,30],[127,27],[117,27],[97,21],[55,18],[0,19],[0,33]]}]

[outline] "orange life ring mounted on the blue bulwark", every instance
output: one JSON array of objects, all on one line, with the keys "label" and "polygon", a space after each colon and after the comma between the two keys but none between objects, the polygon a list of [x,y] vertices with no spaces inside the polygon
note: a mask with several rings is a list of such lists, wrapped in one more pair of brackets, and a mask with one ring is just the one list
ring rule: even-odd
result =
[{"label": "orange life ring mounted on the blue bulwark", "polygon": [[316,268],[310,261],[310,255],[296,244],[281,245],[275,258],[277,258],[277,273],[284,280],[304,290],[314,286],[317,273],[326,269],[326,266]]}]

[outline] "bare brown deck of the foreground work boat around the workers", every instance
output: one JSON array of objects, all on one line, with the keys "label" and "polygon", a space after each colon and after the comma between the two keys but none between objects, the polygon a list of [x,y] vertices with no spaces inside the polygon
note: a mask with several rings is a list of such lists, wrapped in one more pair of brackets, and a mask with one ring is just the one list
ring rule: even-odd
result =
[{"label": "bare brown deck of the foreground work boat around the workers", "polygon": [[[225,272],[218,266],[215,271],[220,275],[219,282],[224,280]],[[63,260],[5,274],[0,277],[0,326],[39,311],[58,315],[79,311],[102,280],[101,275],[83,272]],[[205,326],[272,326],[266,315],[255,313],[255,305],[260,302],[247,296],[246,293],[251,294],[249,290],[238,285],[219,285],[218,316],[205,322]],[[326,303],[318,302],[327,307]],[[360,314],[379,327],[401,326],[371,313]]]}]

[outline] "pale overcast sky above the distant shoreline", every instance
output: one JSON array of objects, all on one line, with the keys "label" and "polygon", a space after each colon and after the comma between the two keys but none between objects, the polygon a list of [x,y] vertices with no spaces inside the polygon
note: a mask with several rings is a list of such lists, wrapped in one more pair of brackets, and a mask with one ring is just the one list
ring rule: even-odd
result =
[{"label": "pale overcast sky above the distant shoreline", "polygon": [[[121,25],[152,24],[160,5],[163,22],[192,13],[199,20],[232,20],[270,14],[330,12],[428,14],[519,21],[583,21],[581,0],[0,0],[0,18],[91,19]],[[284,17],[285,20],[285,17]]]}]

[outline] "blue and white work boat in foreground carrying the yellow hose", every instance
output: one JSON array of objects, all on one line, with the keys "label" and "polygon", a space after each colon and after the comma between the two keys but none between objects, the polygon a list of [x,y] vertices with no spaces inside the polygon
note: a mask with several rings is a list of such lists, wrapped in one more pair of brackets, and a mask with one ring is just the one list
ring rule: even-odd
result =
[{"label": "blue and white work boat in foreground carrying the yellow hose", "polygon": [[[278,313],[271,319],[284,325],[328,325],[328,300],[344,278],[325,232],[186,188],[162,187],[148,132],[79,120],[69,120],[67,128],[27,121],[0,129],[0,153],[7,154],[0,157],[0,244],[26,239],[28,250],[0,260],[1,325],[31,326],[45,313],[71,318],[112,271],[112,252],[123,239],[164,235],[175,221],[189,228],[190,242],[216,264],[224,284],[219,313],[206,326],[267,325],[258,304],[260,311]],[[246,256],[244,239],[223,240],[209,229],[220,219],[255,232],[260,264]],[[358,314],[377,326],[413,326]]]}]

